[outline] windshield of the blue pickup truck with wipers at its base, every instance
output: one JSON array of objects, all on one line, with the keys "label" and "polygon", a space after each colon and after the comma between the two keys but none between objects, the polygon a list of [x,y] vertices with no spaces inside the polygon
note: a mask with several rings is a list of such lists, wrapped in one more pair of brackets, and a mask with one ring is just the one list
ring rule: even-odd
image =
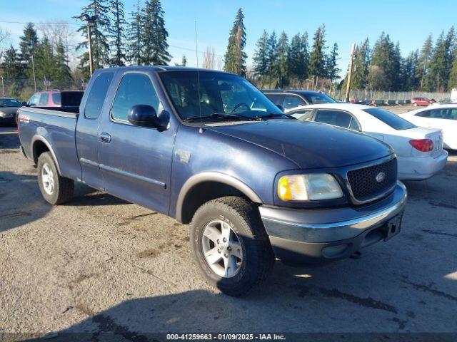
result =
[{"label": "windshield of the blue pickup truck with wipers at its base", "polygon": [[165,71],[162,82],[182,120],[288,118],[246,79],[216,71]]}]

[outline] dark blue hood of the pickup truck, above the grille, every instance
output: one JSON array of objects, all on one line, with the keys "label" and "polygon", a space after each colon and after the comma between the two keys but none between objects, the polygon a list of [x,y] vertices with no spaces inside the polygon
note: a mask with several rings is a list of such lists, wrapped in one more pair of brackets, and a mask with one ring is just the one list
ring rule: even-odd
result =
[{"label": "dark blue hood of the pickup truck, above the grille", "polygon": [[353,165],[393,153],[391,147],[363,133],[301,120],[213,124],[206,129],[264,147],[302,169]]}]

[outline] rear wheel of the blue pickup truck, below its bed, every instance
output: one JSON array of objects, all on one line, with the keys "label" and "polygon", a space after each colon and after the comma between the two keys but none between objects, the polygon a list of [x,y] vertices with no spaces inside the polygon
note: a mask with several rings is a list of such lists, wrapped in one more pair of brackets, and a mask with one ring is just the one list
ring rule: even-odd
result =
[{"label": "rear wheel of the blue pickup truck, below its bed", "polygon": [[51,152],[41,153],[36,168],[41,195],[46,202],[63,204],[73,197],[73,180],[59,175]]}]

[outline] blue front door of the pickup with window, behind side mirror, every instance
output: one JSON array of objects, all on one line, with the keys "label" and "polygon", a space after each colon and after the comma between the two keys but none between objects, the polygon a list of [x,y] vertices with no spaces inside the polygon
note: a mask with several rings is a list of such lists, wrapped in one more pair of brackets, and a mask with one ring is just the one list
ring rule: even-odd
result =
[{"label": "blue front door of the pickup with window, behind side mirror", "polygon": [[105,190],[129,202],[168,213],[176,125],[159,132],[129,123],[128,113],[134,105],[151,105],[158,115],[163,108],[150,73],[119,74],[119,86],[99,134]]}]

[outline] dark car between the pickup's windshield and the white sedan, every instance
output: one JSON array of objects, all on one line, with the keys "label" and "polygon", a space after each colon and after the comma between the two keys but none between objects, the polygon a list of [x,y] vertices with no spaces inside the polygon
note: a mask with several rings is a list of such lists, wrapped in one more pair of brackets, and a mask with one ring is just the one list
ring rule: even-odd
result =
[{"label": "dark car between the pickup's windshield and the white sedan", "polygon": [[299,105],[314,105],[318,103],[336,103],[330,96],[320,91],[312,90],[262,90],[275,105],[283,110],[296,108]]}]

